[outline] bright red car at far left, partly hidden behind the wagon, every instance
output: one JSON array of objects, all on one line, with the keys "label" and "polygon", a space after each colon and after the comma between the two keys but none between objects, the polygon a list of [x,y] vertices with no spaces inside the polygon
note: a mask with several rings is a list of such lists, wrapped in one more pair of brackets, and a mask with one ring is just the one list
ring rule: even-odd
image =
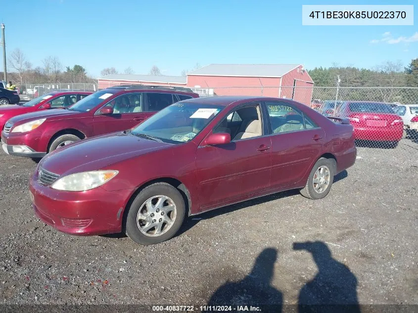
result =
[{"label": "bright red car at far left, partly hidden behind the wagon", "polygon": [[4,128],[4,124],[14,116],[46,110],[50,108],[63,108],[73,105],[84,97],[92,94],[88,91],[53,91],[43,95],[42,97],[30,100],[22,105],[13,105],[0,107],[0,129]]}]

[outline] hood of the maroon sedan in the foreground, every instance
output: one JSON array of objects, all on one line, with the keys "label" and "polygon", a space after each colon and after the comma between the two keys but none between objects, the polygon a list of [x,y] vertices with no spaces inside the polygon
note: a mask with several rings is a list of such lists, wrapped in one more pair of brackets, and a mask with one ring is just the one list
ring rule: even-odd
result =
[{"label": "hood of the maroon sedan in the foreground", "polygon": [[40,165],[58,175],[95,171],[123,160],[173,144],[139,138],[134,135],[113,133],[80,140],[44,157]]}]

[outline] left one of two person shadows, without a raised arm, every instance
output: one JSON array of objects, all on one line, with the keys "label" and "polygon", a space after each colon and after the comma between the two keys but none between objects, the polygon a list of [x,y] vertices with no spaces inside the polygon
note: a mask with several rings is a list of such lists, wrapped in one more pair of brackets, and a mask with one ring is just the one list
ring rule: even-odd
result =
[{"label": "left one of two person shadows, without a raised arm", "polygon": [[276,249],[264,249],[255,260],[251,273],[241,281],[227,282],[219,287],[209,299],[208,306],[272,305],[263,312],[280,313],[283,296],[271,285],[276,259]]}]

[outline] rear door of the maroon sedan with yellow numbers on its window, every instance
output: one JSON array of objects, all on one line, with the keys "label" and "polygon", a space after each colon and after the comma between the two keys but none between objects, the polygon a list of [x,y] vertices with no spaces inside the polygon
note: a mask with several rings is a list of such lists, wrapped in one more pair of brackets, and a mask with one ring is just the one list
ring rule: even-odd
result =
[{"label": "rear door of the maroon sedan with yellow numbers on its window", "polygon": [[322,150],[325,131],[288,102],[265,104],[272,140],[271,187],[279,189],[303,178]]}]

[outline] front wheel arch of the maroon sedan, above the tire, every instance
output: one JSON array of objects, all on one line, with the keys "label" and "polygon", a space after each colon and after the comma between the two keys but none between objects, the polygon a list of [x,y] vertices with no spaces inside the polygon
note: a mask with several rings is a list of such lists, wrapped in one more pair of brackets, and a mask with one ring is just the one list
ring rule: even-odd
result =
[{"label": "front wheel arch of the maroon sedan, above the tire", "polygon": [[125,205],[125,209],[123,211],[123,217],[122,217],[122,232],[125,233],[126,232],[126,218],[128,216],[128,211],[129,211],[129,207],[131,206],[132,202],[134,202],[135,198],[137,197],[137,195],[139,194],[139,192],[144,189],[145,187],[152,185],[153,183],[156,182],[166,182],[170,185],[172,185],[173,187],[177,188],[180,193],[183,196],[183,200],[185,201],[185,205],[186,205],[186,212],[187,212],[187,216],[190,216],[191,213],[191,196],[190,196],[190,192],[188,191],[186,185],[181,182],[179,179],[175,179],[173,177],[161,177],[161,178],[156,178],[156,179],[151,179],[148,180],[147,182],[141,184],[131,195],[131,197],[129,198],[128,202]]}]

